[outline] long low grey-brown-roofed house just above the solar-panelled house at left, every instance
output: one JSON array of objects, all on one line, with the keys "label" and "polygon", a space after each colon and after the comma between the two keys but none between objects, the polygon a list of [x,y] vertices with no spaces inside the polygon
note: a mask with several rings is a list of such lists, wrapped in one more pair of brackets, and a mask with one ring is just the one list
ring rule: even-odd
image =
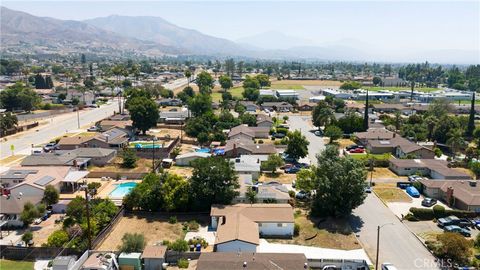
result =
[{"label": "long low grey-brown-roofed house just above the solar-panelled house at left", "polygon": [[110,163],[117,151],[110,148],[77,148],[56,150],[25,157],[22,166],[73,166],[86,168],[88,165],[104,166]]}]

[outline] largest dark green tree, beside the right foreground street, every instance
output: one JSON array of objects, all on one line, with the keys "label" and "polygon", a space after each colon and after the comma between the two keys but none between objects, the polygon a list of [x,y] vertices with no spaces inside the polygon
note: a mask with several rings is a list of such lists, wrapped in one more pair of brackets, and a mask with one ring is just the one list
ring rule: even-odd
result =
[{"label": "largest dark green tree, beside the right foreground street", "polygon": [[318,157],[312,185],[316,194],[312,202],[314,216],[348,216],[366,197],[367,172],[363,162],[339,157],[338,148],[328,145]]}]

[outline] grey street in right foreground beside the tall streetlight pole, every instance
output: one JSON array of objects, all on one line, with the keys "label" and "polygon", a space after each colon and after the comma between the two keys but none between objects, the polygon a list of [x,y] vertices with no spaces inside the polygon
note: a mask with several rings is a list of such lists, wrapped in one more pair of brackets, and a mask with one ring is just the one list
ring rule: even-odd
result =
[{"label": "grey street in right foreground beside the tall streetlight pole", "polygon": [[375,194],[369,194],[365,203],[354,210],[350,223],[372,261],[376,256],[377,226],[394,224],[380,231],[379,265],[390,262],[401,270],[438,269],[435,258]]}]

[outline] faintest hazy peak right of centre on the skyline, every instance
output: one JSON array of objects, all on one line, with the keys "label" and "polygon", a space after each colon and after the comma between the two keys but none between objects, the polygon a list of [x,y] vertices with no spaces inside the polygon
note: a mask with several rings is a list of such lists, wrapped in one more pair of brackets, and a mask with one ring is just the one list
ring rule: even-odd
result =
[{"label": "faintest hazy peak right of centre on the skyline", "polygon": [[315,42],[285,35],[278,31],[267,31],[236,40],[237,43],[267,50],[285,50],[299,46],[315,46]]}]

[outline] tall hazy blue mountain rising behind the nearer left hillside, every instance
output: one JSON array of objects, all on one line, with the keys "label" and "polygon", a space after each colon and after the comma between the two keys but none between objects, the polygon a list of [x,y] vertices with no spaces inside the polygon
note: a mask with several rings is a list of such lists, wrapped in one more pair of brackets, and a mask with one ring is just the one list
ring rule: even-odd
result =
[{"label": "tall hazy blue mountain rising behind the nearer left hillside", "polygon": [[190,54],[248,54],[246,48],[235,42],[182,28],[159,17],[112,15],[84,22],[123,36],[176,47]]}]

